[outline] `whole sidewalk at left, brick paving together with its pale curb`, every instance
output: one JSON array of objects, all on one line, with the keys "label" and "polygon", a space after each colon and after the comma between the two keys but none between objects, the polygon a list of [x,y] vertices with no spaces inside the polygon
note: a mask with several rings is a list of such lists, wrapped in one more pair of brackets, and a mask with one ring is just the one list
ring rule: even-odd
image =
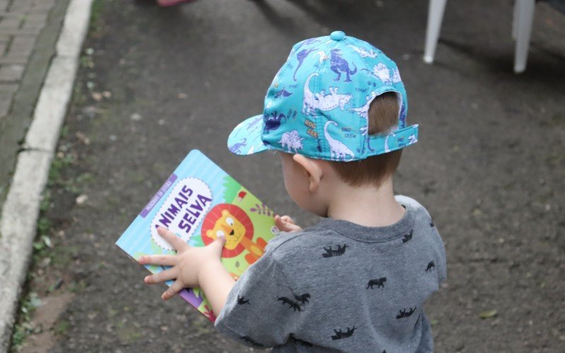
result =
[{"label": "whole sidewalk at left, brick paving together with its pale curb", "polygon": [[90,19],[90,0],[0,1],[0,352],[28,273],[41,193]]}]

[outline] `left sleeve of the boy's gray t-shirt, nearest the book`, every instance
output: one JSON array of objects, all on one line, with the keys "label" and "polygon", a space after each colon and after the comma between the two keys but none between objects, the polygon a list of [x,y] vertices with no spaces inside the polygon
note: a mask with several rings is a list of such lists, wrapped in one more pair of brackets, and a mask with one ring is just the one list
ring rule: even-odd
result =
[{"label": "left sleeve of the boy's gray t-shirt, nearest the book", "polygon": [[235,283],[215,321],[220,333],[250,347],[287,342],[301,315],[281,265],[266,252]]}]

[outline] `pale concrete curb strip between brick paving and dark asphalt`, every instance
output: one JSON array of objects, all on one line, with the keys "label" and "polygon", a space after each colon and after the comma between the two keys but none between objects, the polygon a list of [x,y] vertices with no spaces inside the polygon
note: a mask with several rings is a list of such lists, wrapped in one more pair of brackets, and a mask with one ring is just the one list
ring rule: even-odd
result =
[{"label": "pale concrete curb strip between brick paving and dark asphalt", "polygon": [[[88,31],[92,3],[93,0],[71,0],[67,8],[57,40],[57,53],[49,66],[25,138],[27,149],[18,155],[16,171],[2,208],[0,352],[6,352],[10,343],[21,286],[25,282],[36,234],[41,193],[47,183],[59,131],[71,99],[78,55]],[[63,80],[61,66],[69,70]]]}]

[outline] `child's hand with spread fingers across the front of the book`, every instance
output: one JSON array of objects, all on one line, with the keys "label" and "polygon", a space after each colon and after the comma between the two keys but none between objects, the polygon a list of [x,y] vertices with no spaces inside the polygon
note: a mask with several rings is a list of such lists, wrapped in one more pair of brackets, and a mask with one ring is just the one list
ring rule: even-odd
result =
[{"label": "child's hand with spread fingers across the front of the book", "polygon": [[169,299],[186,287],[200,287],[201,273],[210,272],[213,268],[218,268],[218,265],[222,267],[220,257],[225,237],[218,237],[208,246],[194,248],[165,227],[159,227],[157,232],[174,246],[177,255],[141,256],[138,262],[142,265],[172,266],[160,273],[145,277],[147,284],[175,280],[171,287],[162,294],[162,299]]}]

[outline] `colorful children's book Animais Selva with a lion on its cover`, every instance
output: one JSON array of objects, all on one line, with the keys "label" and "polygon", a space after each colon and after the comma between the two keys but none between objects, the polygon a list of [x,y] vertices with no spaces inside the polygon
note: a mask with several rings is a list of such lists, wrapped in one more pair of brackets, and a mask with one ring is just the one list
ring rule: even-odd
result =
[{"label": "colorful children's book Animais Selva with a lion on its cover", "polygon": [[[143,255],[175,253],[157,234],[159,226],[167,227],[190,246],[206,246],[224,234],[222,264],[237,280],[278,233],[274,217],[273,211],[206,155],[191,150],[116,244],[138,260]],[[167,269],[159,265],[145,268],[151,273]],[[186,288],[179,295],[215,321],[200,289]]]}]

